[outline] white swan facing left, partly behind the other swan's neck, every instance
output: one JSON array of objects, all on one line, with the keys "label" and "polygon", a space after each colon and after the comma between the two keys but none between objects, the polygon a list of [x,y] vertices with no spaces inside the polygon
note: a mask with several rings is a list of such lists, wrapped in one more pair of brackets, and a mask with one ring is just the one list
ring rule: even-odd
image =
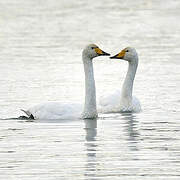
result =
[{"label": "white swan facing left, partly behind the other swan's neck", "polygon": [[136,97],[132,96],[134,78],[138,67],[138,54],[135,48],[127,47],[119,54],[110,58],[126,60],[128,61],[129,67],[122,86],[122,91],[116,91],[107,97],[101,97],[99,111],[104,113],[140,112],[140,102]]}]

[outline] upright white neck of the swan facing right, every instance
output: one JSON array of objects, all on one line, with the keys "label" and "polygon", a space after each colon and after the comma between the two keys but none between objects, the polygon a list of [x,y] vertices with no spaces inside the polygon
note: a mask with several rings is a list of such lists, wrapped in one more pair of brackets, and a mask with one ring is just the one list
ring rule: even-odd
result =
[{"label": "upright white neck of the swan facing right", "polygon": [[85,104],[82,117],[83,119],[93,119],[97,117],[93,63],[92,59],[85,55],[82,58],[85,72]]}]

